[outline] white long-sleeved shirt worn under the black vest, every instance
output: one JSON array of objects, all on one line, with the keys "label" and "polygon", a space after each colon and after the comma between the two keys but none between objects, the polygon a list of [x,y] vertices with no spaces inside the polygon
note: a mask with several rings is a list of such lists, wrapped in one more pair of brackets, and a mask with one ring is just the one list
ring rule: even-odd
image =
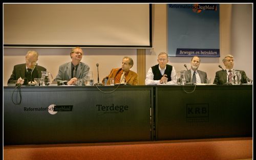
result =
[{"label": "white long-sleeved shirt worn under the black vest", "polygon": [[[159,71],[161,72],[161,75],[164,74],[164,71],[166,70],[166,66],[165,68],[162,70],[159,67]],[[176,79],[176,71],[175,71],[175,68],[173,66],[173,70],[172,70],[172,73],[170,74],[170,78],[172,78],[171,81],[168,81],[167,84],[177,84],[177,79]],[[146,79],[145,79],[145,85],[159,85],[160,84],[160,80],[154,80],[154,74],[153,74],[153,71],[152,71],[152,68],[150,67],[150,69],[147,71],[147,74],[146,74]]]}]

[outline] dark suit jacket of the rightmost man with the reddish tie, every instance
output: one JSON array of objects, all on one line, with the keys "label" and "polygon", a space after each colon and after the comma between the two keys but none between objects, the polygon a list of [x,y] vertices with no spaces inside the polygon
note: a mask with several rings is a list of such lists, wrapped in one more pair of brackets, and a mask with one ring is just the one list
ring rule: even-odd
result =
[{"label": "dark suit jacket of the rightmost man with the reddish tie", "polygon": [[[241,83],[247,83],[246,81],[246,74],[244,71],[241,71],[241,70],[236,70],[236,71],[239,71],[240,74],[241,74]],[[221,71],[218,71],[216,72],[216,75],[215,75],[215,79],[214,79],[214,84],[225,84],[227,82],[227,73],[226,73],[226,70],[221,70]]]}]

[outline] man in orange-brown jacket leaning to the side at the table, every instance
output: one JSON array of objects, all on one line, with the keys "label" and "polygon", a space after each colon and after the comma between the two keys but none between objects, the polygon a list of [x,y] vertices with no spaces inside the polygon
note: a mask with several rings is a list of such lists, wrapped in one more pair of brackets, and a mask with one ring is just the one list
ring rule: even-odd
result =
[{"label": "man in orange-brown jacket leaning to the side at the table", "polygon": [[[133,59],[131,57],[123,57],[121,68],[113,68],[109,74],[105,78],[108,79],[106,85],[110,85],[110,78],[114,78],[114,83],[120,84],[131,84],[138,85],[138,74],[131,71],[130,68],[133,67]],[[104,84],[104,79],[102,80],[102,84]]]}]

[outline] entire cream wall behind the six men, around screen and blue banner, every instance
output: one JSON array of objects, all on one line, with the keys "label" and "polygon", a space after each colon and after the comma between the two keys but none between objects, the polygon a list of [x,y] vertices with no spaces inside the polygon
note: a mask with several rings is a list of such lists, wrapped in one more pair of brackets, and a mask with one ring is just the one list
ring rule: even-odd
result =
[{"label": "entire cream wall behind the six men, around screen and blue banner", "polygon": [[[146,72],[148,68],[157,64],[157,55],[166,52],[166,5],[154,4],[153,11],[153,48],[146,50]],[[11,76],[13,66],[25,63],[28,50],[39,53],[38,65],[45,66],[48,71],[57,75],[58,66],[70,61],[71,49],[22,49],[5,48],[3,50],[3,85]],[[137,72],[136,49],[83,49],[82,62],[90,66],[94,80],[97,81],[97,67],[99,63],[100,81],[110,73],[114,67],[120,67],[123,56],[130,56],[134,60],[133,71]],[[220,5],[220,53],[221,57],[201,57],[199,69],[207,72],[213,82],[219,64],[227,54],[234,55],[234,68],[244,70],[248,77],[252,77],[252,5],[251,4],[221,4]],[[175,66],[176,71],[185,70],[184,64],[190,66],[191,57],[169,57],[169,64]]]}]

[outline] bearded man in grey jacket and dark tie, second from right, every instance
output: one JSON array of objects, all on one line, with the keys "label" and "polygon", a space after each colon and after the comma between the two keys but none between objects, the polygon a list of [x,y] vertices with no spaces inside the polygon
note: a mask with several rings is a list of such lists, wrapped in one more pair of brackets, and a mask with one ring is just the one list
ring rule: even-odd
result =
[{"label": "bearded man in grey jacket and dark tie, second from right", "polygon": [[198,67],[200,65],[200,58],[198,56],[192,57],[190,64],[190,70],[185,72],[186,82],[190,82],[191,80],[191,83],[207,83],[206,72],[198,70]]}]

